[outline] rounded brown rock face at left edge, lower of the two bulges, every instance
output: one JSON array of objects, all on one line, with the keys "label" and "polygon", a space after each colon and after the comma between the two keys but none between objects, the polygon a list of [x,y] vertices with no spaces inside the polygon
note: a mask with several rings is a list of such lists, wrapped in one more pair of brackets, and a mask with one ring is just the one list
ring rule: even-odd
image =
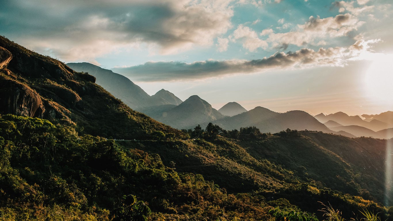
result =
[{"label": "rounded brown rock face at left edge, lower of the two bulges", "polygon": [[45,108],[31,88],[5,80],[0,82],[0,112],[42,118]]}]

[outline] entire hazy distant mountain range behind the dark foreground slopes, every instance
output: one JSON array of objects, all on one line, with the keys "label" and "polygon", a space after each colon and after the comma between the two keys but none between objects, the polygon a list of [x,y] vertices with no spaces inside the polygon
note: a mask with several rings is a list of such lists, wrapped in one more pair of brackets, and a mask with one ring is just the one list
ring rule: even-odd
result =
[{"label": "entire hazy distant mountain range behind the dark foreground slopes", "polygon": [[[129,107],[178,129],[192,129],[198,124],[206,126],[209,122],[213,122],[224,129],[239,129],[240,127],[255,125],[261,131],[270,133],[290,128],[323,131],[349,137],[359,135],[390,138],[389,133],[375,133],[392,127],[389,123],[378,120],[389,121],[390,112],[380,115],[365,115],[367,117],[365,120],[360,116],[348,116],[343,112],[326,116],[321,113],[314,116],[320,122],[318,123],[305,112],[295,110],[281,114],[262,107],[247,111],[236,102],[229,102],[217,111],[207,101],[198,96],[191,96],[184,105],[177,107],[182,103],[182,100],[167,90],[162,89],[153,96],[149,96],[127,77],[116,74],[111,70],[90,63],[68,63],[67,65],[79,72],[92,74],[96,77],[97,84],[108,90],[116,98],[121,99]],[[241,116],[236,117],[236,115]],[[349,127],[352,125],[357,127]]]}]

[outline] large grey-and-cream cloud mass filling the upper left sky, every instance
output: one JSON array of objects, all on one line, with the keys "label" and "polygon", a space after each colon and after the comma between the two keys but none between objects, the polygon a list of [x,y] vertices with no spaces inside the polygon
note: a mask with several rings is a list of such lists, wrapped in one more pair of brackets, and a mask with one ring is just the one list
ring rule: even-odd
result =
[{"label": "large grey-and-cream cloud mass filling the upper left sky", "polygon": [[[168,54],[213,45],[232,27],[231,2],[13,0],[2,2],[0,23],[3,33],[14,33],[18,42],[67,61],[141,44]],[[23,35],[16,35],[15,28],[23,30]]]}]

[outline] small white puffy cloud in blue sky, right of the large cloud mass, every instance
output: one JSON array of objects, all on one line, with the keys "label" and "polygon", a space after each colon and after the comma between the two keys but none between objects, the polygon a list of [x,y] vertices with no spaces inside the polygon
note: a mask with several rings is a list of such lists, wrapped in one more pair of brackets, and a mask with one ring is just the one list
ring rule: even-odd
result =
[{"label": "small white puffy cloud in blue sky, right of the large cloud mass", "polygon": [[230,38],[234,40],[241,39],[243,48],[254,52],[257,48],[266,48],[268,43],[258,38],[258,34],[247,26],[239,25]]}]

